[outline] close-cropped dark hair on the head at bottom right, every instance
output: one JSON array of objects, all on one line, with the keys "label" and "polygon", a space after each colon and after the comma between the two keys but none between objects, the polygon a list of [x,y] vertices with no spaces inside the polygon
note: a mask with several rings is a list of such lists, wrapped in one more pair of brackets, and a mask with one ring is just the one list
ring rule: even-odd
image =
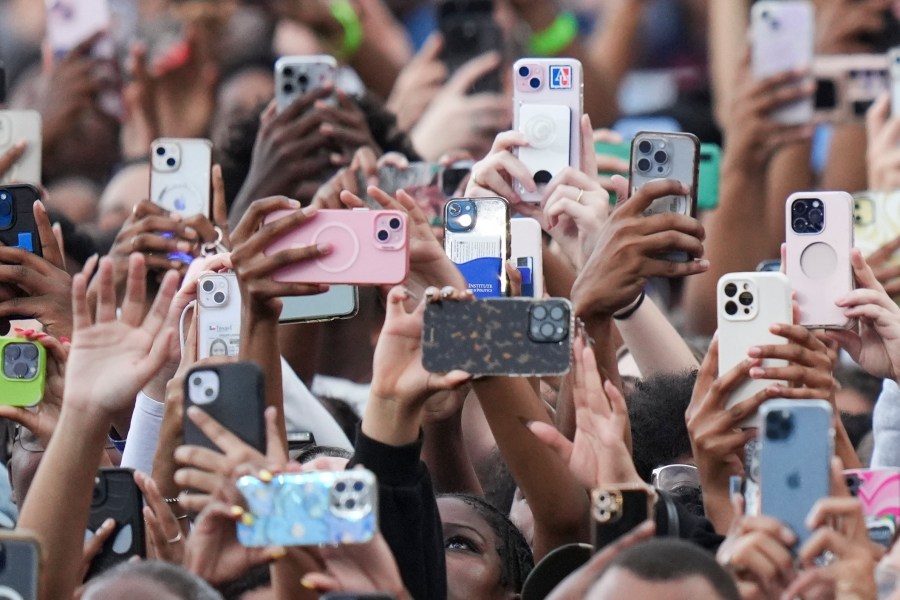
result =
[{"label": "close-cropped dark hair on the head at bottom right", "polygon": [[632,546],[616,556],[598,577],[620,568],[645,581],[675,581],[698,576],[709,582],[723,600],[740,600],[731,575],[698,546],[674,538],[656,538]]}]

